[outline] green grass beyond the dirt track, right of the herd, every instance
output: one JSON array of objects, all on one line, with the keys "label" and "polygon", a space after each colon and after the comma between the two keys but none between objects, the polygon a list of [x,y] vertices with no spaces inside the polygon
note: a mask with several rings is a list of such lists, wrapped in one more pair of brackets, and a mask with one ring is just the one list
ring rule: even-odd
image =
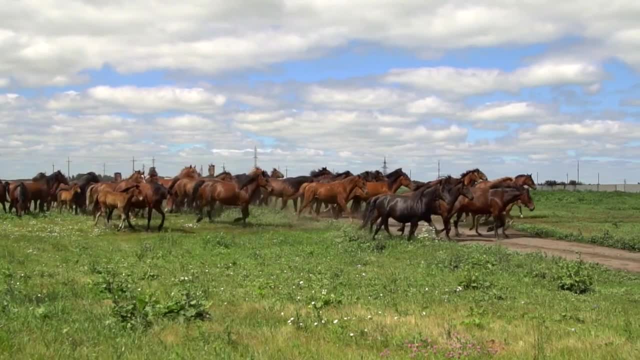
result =
[{"label": "green grass beyond the dirt track, right of the herd", "polygon": [[[640,194],[532,190],[536,209],[523,208],[516,229],[561,240],[640,251]],[[519,215],[518,208],[511,215]]]}]

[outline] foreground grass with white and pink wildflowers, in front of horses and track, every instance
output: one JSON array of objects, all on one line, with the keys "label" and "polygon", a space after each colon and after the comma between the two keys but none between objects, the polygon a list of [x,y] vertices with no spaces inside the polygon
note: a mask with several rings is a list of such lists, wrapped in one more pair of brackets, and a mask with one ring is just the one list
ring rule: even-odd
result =
[{"label": "foreground grass with white and pink wildflowers, in front of horses and track", "polygon": [[[534,214],[545,214],[547,195],[535,195]],[[428,238],[372,243],[348,222],[298,221],[270,209],[252,208],[242,227],[230,223],[237,213],[199,225],[193,215],[172,215],[163,233],[116,233],[56,213],[0,215],[0,357],[634,359],[640,352],[637,275]]]}]

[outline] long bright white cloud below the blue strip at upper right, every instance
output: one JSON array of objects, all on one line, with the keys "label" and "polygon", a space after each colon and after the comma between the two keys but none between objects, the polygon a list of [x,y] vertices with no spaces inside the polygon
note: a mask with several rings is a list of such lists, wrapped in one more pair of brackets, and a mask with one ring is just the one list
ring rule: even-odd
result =
[{"label": "long bright white cloud below the blue strip at upper right", "polygon": [[602,80],[603,76],[604,72],[596,65],[547,61],[513,72],[446,66],[392,69],[383,76],[383,81],[463,96],[495,91],[518,92],[522,88],[533,86],[593,85]]}]

